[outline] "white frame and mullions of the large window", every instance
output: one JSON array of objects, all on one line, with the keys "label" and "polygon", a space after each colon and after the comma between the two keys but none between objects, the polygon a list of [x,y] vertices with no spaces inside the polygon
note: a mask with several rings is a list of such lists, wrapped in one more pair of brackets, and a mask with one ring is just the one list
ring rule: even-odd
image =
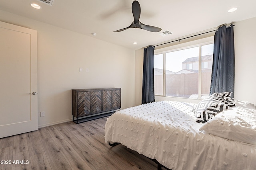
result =
[{"label": "white frame and mullions of the large window", "polygon": [[[204,41],[204,42],[198,43],[198,41]],[[182,44],[170,46],[167,49],[166,48],[157,49],[157,50],[155,49],[154,55],[163,54],[163,68],[164,68],[163,69],[163,95],[155,94],[155,96],[166,97],[166,98],[180,98],[180,99],[186,99],[186,100],[187,99],[188,100],[202,100],[202,98],[201,98],[201,90],[202,90],[201,89],[201,84],[202,84],[201,72],[202,72],[202,69],[204,69],[204,68],[202,68],[202,55],[201,55],[202,46],[213,44],[213,43],[214,43],[214,37],[207,37],[207,38],[205,38],[205,40],[198,39],[195,41],[190,41],[188,43],[182,43]],[[187,45],[187,44],[189,44],[189,45]],[[176,97],[176,96],[166,96],[166,53],[180,51],[180,50],[189,49],[189,48],[193,48],[193,47],[199,47],[198,70],[200,70],[200,71],[198,71],[198,99],[182,98],[182,97]]]}]

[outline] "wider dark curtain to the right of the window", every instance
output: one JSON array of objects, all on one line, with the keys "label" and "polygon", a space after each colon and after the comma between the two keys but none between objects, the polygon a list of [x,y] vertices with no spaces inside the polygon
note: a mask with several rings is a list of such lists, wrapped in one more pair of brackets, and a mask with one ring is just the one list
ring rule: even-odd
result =
[{"label": "wider dark curtain to the right of the window", "polygon": [[219,27],[214,35],[212,80],[210,94],[233,92],[235,76],[234,29],[226,25]]}]

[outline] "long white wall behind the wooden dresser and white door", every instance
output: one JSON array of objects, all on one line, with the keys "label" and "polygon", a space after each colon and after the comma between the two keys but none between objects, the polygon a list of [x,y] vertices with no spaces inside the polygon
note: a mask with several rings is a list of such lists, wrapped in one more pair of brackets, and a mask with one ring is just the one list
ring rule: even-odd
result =
[{"label": "long white wall behind the wooden dresser and white door", "polygon": [[0,21],[38,31],[38,127],[72,119],[71,89],[121,88],[121,107],[135,106],[134,50],[1,10]]}]

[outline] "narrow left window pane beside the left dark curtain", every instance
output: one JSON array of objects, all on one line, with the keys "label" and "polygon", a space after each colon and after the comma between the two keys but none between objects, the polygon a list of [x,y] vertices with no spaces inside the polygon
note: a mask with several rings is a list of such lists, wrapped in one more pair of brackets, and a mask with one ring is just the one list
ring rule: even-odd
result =
[{"label": "narrow left window pane beside the left dark curtain", "polygon": [[164,88],[164,54],[154,56],[154,88],[155,95],[163,95]]}]

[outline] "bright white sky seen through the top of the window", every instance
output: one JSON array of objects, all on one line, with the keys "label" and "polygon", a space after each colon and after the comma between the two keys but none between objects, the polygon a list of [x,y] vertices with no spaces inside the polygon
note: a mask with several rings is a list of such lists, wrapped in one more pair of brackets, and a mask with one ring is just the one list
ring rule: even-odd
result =
[{"label": "bright white sky seen through the top of the window", "polygon": [[[182,70],[182,62],[190,57],[198,57],[199,47],[166,53],[166,70]],[[213,54],[213,44],[202,46],[202,56]],[[163,69],[163,54],[155,55],[154,67]]]}]

